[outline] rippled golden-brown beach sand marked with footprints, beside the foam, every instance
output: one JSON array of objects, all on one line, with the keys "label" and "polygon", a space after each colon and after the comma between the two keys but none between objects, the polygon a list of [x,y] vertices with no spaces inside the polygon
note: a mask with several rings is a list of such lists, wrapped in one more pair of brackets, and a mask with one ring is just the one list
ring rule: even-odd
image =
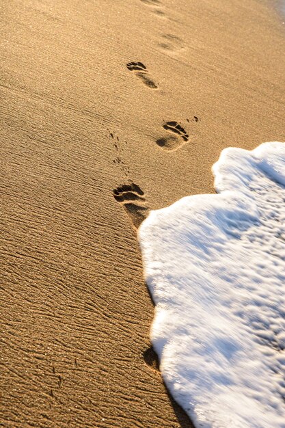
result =
[{"label": "rippled golden-brown beach sand marked with footprints, beside the foam", "polygon": [[285,140],[274,6],[2,2],[1,426],[191,427],[145,362],[153,306],[117,200],[213,192],[222,148]]}]

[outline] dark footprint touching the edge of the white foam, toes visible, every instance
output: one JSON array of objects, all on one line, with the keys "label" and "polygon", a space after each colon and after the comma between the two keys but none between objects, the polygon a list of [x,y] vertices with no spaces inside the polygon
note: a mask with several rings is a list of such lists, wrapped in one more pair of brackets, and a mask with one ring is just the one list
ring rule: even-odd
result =
[{"label": "dark footprint touching the edge of the white foam, toes visible", "polygon": [[113,197],[124,206],[133,225],[138,228],[148,215],[148,208],[144,206],[146,199],[141,188],[135,183],[122,185],[113,190]]}]

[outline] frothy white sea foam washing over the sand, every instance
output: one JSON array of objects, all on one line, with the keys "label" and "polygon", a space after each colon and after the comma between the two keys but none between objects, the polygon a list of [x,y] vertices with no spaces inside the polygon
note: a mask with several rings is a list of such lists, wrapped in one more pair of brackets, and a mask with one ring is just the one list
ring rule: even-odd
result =
[{"label": "frothy white sea foam washing over the sand", "polygon": [[285,427],[285,144],[223,150],[217,195],[139,228],[151,339],[196,427]]}]

